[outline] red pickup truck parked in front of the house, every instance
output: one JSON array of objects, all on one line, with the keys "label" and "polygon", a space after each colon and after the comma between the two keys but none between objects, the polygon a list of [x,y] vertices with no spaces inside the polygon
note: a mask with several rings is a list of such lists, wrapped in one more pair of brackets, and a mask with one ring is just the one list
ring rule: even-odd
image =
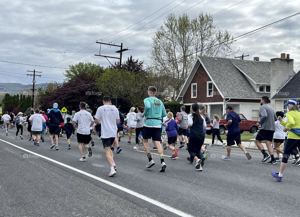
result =
[{"label": "red pickup truck parked in front of the house", "polygon": [[[242,122],[239,123],[239,128],[241,130],[241,133],[243,133],[244,131],[249,131],[250,133],[257,132],[258,130],[258,127],[256,126],[257,121],[247,120],[243,114],[238,114],[238,115],[242,120]],[[220,120],[220,124],[219,124],[220,134],[225,134],[225,130],[227,130],[227,128],[224,127],[224,124],[226,124],[226,117],[227,114],[224,114],[223,118]],[[208,135],[212,134],[212,129],[209,124],[206,125],[206,134]]]}]

